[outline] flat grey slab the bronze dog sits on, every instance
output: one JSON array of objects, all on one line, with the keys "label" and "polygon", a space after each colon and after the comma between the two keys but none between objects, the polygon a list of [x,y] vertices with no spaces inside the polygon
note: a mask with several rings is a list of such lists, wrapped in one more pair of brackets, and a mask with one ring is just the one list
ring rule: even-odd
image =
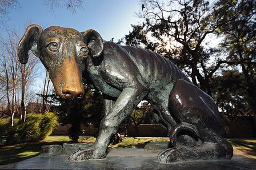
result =
[{"label": "flat grey slab the bronze dog sits on", "polygon": [[110,149],[106,159],[86,160],[83,163],[67,161],[68,156],[35,156],[15,164],[2,165],[0,169],[255,169],[256,160],[234,155],[231,160],[186,161],[159,164],[158,153],[144,149]]}]

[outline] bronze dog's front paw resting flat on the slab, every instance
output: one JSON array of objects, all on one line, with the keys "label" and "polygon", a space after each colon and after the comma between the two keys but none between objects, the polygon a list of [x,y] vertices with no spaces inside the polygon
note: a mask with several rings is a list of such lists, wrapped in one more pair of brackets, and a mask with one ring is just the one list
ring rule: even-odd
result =
[{"label": "bronze dog's front paw resting flat on the slab", "polygon": [[83,161],[88,159],[98,159],[97,155],[95,155],[94,149],[78,149],[74,153],[71,153],[69,156],[69,161]]}]

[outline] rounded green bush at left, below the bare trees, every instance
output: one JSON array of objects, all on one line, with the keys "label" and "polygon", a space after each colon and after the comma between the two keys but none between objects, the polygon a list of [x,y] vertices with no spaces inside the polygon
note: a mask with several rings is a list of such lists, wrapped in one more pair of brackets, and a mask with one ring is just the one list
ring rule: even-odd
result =
[{"label": "rounded green bush at left, below the bare trees", "polygon": [[49,136],[58,126],[57,115],[27,114],[26,122],[14,119],[14,126],[10,125],[10,118],[0,119],[0,136],[8,136],[7,144],[17,144],[39,141]]}]

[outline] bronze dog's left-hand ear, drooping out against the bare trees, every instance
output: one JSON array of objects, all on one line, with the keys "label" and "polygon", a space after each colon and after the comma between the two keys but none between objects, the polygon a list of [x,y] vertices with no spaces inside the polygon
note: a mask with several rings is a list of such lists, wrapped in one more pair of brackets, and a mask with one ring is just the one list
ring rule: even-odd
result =
[{"label": "bronze dog's left-hand ear, drooping out against the bare trees", "polygon": [[37,43],[42,31],[42,27],[39,25],[30,25],[27,27],[25,34],[18,44],[19,62],[22,64],[27,63],[29,50],[31,50],[35,56],[39,56]]}]

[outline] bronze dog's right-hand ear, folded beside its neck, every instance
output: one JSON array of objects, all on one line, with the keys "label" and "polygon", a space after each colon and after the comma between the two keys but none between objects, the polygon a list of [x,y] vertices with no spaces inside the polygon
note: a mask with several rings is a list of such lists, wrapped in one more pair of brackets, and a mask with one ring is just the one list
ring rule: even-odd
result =
[{"label": "bronze dog's right-hand ear, folded beside its neck", "polygon": [[87,30],[81,34],[83,35],[83,42],[85,42],[91,51],[91,56],[100,56],[103,51],[103,39],[101,35],[95,30]]}]

